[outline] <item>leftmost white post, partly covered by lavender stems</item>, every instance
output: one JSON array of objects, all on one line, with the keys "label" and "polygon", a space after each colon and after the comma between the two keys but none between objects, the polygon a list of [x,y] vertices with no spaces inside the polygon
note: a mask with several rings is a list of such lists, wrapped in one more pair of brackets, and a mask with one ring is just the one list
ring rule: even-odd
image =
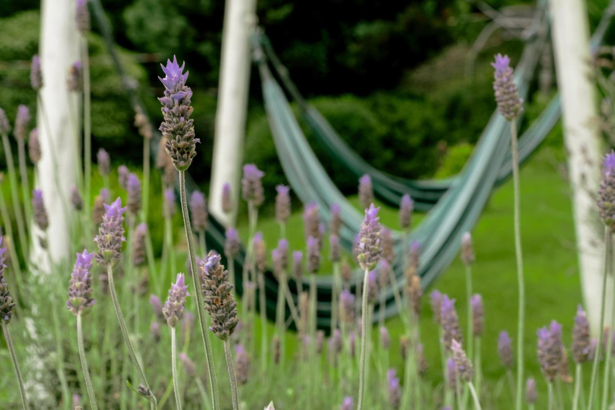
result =
[{"label": "leftmost white post, partly covered by lavender stems", "polygon": [[[41,161],[38,163],[38,175],[35,182],[43,191],[43,198],[49,214],[47,240],[50,254],[54,260],[66,259],[69,253],[69,230],[72,222],[63,211],[62,201],[68,201],[70,188],[76,179],[74,127],[71,125],[70,107],[76,110],[76,96],[69,97],[66,90],[66,78],[69,67],[79,60],[79,33],[74,22],[74,0],[43,0],[41,4],[41,56],[43,86],[40,90],[42,106],[39,102],[36,110],[36,126],[41,142]],[[69,104],[68,98],[73,98]],[[44,110],[44,111],[43,111]],[[77,118],[77,112],[72,113]],[[47,126],[49,124],[49,127]],[[50,135],[49,135],[50,134]],[[53,144],[50,145],[50,142]],[[52,153],[55,152],[57,169],[54,167]],[[55,182],[58,172],[60,192]],[[39,246],[36,237],[43,235],[33,227],[35,262],[47,268],[49,263],[46,251]]]}]

